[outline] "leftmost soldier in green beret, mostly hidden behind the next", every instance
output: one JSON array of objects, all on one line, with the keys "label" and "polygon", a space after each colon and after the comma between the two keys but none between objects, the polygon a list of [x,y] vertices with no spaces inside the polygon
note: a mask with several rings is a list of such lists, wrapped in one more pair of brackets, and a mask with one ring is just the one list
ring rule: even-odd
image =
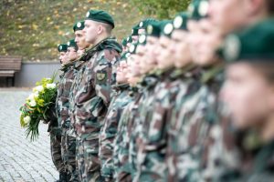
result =
[{"label": "leftmost soldier in green beret, mostly hidden behind the next", "polygon": [[[60,53],[59,61],[61,64],[68,60],[66,52],[68,50],[68,45],[58,45],[58,52]],[[64,76],[64,72],[60,75],[60,79]],[[58,98],[57,98],[58,99]],[[60,115],[58,106],[56,106],[56,114]],[[67,173],[63,158],[61,156],[61,130],[58,126],[58,118],[56,120],[50,121],[48,124],[48,132],[50,135],[50,152],[53,164],[58,169],[59,179],[58,181],[66,181]]]}]

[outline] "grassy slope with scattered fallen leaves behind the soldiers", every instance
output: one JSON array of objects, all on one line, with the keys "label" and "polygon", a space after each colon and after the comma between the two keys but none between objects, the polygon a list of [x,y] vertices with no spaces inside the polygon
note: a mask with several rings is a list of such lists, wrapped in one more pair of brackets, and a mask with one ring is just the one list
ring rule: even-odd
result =
[{"label": "grassy slope with scattered fallen leaves behind the soldiers", "polygon": [[144,17],[174,17],[189,0],[0,0],[0,55],[57,59],[57,45],[73,37],[72,25],[90,9],[113,15],[119,40]]}]

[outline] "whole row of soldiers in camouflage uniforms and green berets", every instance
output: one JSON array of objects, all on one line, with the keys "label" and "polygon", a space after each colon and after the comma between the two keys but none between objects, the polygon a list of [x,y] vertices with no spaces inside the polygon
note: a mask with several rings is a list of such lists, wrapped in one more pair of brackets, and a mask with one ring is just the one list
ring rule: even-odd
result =
[{"label": "whole row of soldiers in camouflage uniforms and green berets", "polygon": [[193,0],[121,45],[90,10],[58,45],[59,181],[273,181],[274,3]]}]

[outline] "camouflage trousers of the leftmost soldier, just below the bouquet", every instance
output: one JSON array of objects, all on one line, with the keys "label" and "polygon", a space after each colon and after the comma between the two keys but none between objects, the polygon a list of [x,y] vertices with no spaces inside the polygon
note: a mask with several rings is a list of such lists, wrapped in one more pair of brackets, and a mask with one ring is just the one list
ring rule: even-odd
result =
[{"label": "camouflage trousers of the leftmost soldier, just below the bouquet", "polygon": [[58,127],[52,128],[50,135],[50,153],[54,166],[59,173],[65,172],[65,165],[61,156],[61,135]]}]

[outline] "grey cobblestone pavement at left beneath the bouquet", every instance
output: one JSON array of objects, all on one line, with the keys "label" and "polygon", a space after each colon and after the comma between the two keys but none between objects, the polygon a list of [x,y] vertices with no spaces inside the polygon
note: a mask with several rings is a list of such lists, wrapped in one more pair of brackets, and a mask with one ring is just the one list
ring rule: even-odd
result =
[{"label": "grey cobblestone pavement at left beneath the bouquet", "polygon": [[26,139],[18,108],[30,91],[0,90],[0,182],[53,182],[58,172],[50,157],[47,125],[37,141]]}]

